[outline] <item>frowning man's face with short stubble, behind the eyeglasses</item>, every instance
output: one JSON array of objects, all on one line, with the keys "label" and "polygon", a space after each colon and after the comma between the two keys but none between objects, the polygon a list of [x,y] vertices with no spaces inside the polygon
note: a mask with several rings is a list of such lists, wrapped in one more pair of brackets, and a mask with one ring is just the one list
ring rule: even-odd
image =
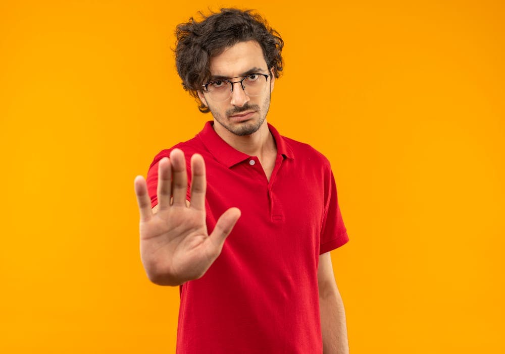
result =
[{"label": "frowning man's face with short stubble, behind the eyeglasses", "polygon": [[[247,74],[269,74],[263,50],[256,41],[239,42],[221,54],[211,58],[212,77],[234,78]],[[263,124],[270,106],[270,94],[274,89],[272,74],[260,95],[249,97],[240,83],[233,84],[233,92],[226,101],[216,102],[206,92],[198,91],[201,101],[209,107],[214,121],[227,131],[238,135],[250,135],[257,132]],[[232,79],[231,81],[238,81]],[[220,129],[216,127],[215,129]]]}]

